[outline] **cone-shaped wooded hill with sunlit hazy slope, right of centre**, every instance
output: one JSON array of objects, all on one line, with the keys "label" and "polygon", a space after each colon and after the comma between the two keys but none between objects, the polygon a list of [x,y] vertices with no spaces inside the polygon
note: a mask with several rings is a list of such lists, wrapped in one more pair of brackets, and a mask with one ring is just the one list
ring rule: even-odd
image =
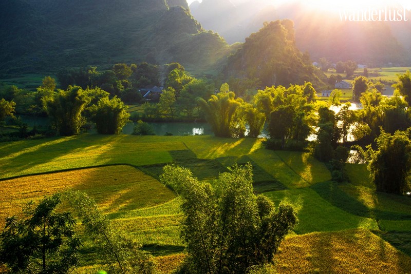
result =
[{"label": "cone-shaped wooded hill with sunlit hazy slope, right of centre", "polygon": [[311,65],[308,55],[297,49],[294,35],[290,20],[266,23],[228,58],[226,76],[259,79],[263,86],[288,87],[304,82],[322,86],[325,75]]}]

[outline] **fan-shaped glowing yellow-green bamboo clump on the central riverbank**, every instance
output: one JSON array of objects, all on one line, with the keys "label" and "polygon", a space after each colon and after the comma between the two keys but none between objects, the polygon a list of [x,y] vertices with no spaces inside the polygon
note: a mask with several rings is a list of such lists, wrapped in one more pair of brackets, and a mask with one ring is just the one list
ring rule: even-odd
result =
[{"label": "fan-shaped glowing yellow-green bamboo clump on the central riverbank", "polygon": [[198,104],[206,114],[207,122],[217,137],[244,136],[246,128],[240,108],[244,101],[234,97],[234,92],[230,91],[211,95],[209,101],[202,98],[198,100]]}]

